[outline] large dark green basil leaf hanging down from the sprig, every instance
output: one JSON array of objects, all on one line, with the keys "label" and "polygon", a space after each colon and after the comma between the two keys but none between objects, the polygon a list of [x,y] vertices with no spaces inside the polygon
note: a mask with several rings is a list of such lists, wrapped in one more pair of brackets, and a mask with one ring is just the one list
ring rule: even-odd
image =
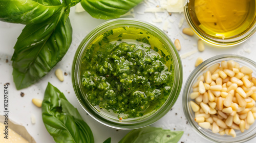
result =
[{"label": "large dark green basil leaf hanging down from the sprig", "polygon": [[16,88],[26,88],[44,77],[66,54],[71,42],[71,23],[63,12],[42,23],[27,25],[12,56]]}]

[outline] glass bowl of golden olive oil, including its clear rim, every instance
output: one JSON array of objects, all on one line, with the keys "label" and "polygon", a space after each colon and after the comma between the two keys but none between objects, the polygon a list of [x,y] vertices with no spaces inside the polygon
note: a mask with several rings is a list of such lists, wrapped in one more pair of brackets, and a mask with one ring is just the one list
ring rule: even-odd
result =
[{"label": "glass bowl of golden olive oil, including its clear rim", "polygon": [[184,7],[190,28],[218,46],[244,42],[256,31],[255,0],[190,0]]}]

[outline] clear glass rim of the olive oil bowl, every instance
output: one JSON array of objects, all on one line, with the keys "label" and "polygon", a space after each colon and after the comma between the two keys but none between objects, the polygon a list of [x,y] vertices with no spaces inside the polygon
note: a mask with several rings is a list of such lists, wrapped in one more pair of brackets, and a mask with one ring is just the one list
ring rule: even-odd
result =
[{"label": "clear glass rim of the olive oil bowl", "polygon": [[[225,40],[225,39],[217,39],[217,38],[208,38],[210,36],[207,36],[203,33],[201,33],[199,30],[197,30],[197,28],[195,27],[194,23],[191,21],[191,18],[189,17],[189,10],[188,10],[188,3],[186,3],[186,5],[184,6],[183,9],[183,13],[184,13],[184,17],[186,19],[186,22],[188,23],[188,26],[190,27],[191,30],[194,31],[194,33],[203,41],[212,44],[212,45],[216,45],[216,46],[221,46],[221,47],[228,47],[228,46],[233,46],[233,45],[238,45],[240,43],[243,43],[244,41],[246,41],[248,38],[250,38],[255,32],[256,32],[256,20],[254,21],[254,23],[252,24],[251,28],[246,31],[245,33],[243,33],[242,35],[235,37],[235,38],[229,38],[229,39],[233,39],[233,40]],[[256,19],[256,17],[254,18]],[[214,40],[215,39],[215,40]]]}]

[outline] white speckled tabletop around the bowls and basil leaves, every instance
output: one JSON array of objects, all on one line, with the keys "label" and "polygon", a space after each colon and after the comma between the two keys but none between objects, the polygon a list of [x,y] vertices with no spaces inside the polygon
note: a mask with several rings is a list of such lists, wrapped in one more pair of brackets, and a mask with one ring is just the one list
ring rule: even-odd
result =
[{"label": "white speckled tabletop around the bowls and basil leaves", "polygon": [[[156,4],[150,4],[151,7],[155,7]],[[179,52],[180,55],[197,50],[197,40],[199,39],[196,35],[193,37],[186,36],[184,38],[181,33],[182,29],[188,27],[186,21],[179,28],[180,20],[184,18],[183,13],[173,13],[169,16],[167,12],[158,13],[144,13],[144,10],[148,7],[145,3],[138,5],[134,9],[134,17],[153,23],[160,29],[163,29],[165,21],[168,22],[167,35],[174,41],[178,38],[181,42],[182,49]],[[162,22],[154,23],[156,18],[163,19]],[[11,57],[14,52],[13,46],[15,45],[18,35],[22,32],[24,25],[11,24],[0,22],[0,91],[3,91],[4,84],[9,82],[9,110],[10,119],[24,125],[28,132],[35,138],[36,142],[54,142],[52,136],[47,132],[44,123],[41,118],[41,109],[35,107],[31,100],[33,98],[43,99],[44,91],[46,89],[47,83],[50,82],[56,86],[60,91],[62,91],[67,99],[78,108],[85,122],[91,127],[95,142],[103,142],[106,138],[111,137],[112,142],[118,142],[126,133],[127,130],[116,130],[110,127],[106,127],[97,121],[93,120],[92,117],[86,114],[78,103],[75,93],[73,91],[71,83],[71,65],[73,61],[73,56],[79,45],[80,41],[90,32],[93,28],[98,26],[105,20],[92,18],[87,12],[75,13],[74,8],[71,9],[70,19],[73,27],[73,41],[71,47],[65,57],[54,67],[51,72],[41,79],[40,82],[34,84],[33,86],[16,90],[13,83],[12,77],[12,66]],[[174,21],[174,22],[170,22]],[[238,54],[241,56],[248,57],[256,61],[256,35],[252,36],[246,42],[232,46],[228,48],[221,48],[216,46],[211,46],[205,43],[205,51],[197,52],[190,57],[182,59],[183,63],[183,87],[191,71],[195,68],[194,64],[197,57],[202,57],[204,60],[219,54]],[[8,62],[6,63],[6,59]],[[60,82],[54,75],[54,70],[56,68],[61,68],[63,71],[68,73],[65,76],[64,82]],[[183,90],[183,88],[182,88]],[[20,92],[24,92],[25,96],[21,97]],[[209,142],[201,136],[199,136],[188,124],[186,124],[186,118],[182,109],[182,93],[173,107],[173,110],[169,111],[165,116],[163,116],[158,122],[153,124],[154,127],[162,127],[164,129],[170,130],[182,130],[184,134],[180,139],[180,142]],[[0,93],[0,114],[3,114],[3,93]],[[36,124],[31,123],[31,115],[36,117]],[[255,142],[256,138],[248,141]]]}]

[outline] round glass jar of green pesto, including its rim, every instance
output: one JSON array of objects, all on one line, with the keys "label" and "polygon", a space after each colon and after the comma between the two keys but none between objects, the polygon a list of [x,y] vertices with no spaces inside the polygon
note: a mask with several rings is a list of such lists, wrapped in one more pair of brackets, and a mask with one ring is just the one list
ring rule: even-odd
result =
[{"label": "round glass jar of green pesto, including its rim", "polygon": [[100,123],[136,129],[155,123],[179,96],[182,63],[170,38],[150,23],[102,23],[79,45],[72,67],[81,106]]}]

